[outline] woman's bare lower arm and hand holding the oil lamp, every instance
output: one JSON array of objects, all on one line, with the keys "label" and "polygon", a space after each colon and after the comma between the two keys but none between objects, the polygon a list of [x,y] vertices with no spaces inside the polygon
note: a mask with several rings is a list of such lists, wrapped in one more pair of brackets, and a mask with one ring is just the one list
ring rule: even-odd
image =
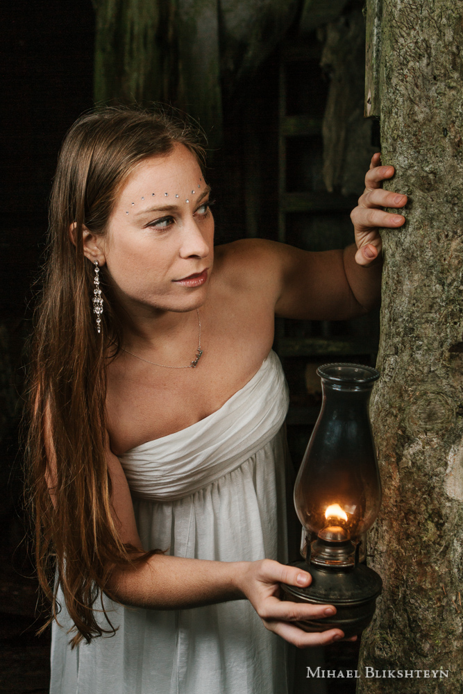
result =
[{"label": "woman's bare lower arm and hand holding the oil lamp", "polygon": [[[109,450],[112,505],[121,540],[140,548],[128,483],[119,459]],[[332,643],[341,629],[308,634],[292,620],[322,618],[335,613],[332,605],[309,605],[278,598],[280,582],[308,586],[310,574],[278,561],[208,561],[162,554],[113,570],[109,591],[122,604],[148,609],[186,609],[247,598],[265,627],[299,648]]]}]

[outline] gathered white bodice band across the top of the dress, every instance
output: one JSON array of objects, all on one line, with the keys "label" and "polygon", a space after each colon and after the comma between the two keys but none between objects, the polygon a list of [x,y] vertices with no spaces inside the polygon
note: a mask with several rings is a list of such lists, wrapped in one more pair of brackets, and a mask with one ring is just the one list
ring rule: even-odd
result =
[{"label": "gathered white bodice band across the top of the dress", "polygon": [[271,351],[253,378],[216,412],[119,456],[133,496],[172,501],[226,475],[273,439],[288,403],[285,376]]}]

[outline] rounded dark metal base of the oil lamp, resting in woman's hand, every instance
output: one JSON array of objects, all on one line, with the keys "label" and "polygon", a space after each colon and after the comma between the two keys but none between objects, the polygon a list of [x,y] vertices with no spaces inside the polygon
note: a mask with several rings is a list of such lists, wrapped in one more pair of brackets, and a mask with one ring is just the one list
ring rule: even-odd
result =
[{"label": "rounded dark metal base of the oil lamp, resting in woman's hand", "polygon": [[342,629],[344,636],[360,634],[371,622],[376,609],[376,598],[382,590],[382,580],[373,569],[364,564],[356,566],[317,566],[312,562],[296,561],[296,566],[312,575],[308,588],[281,584],[283,599],[310,604],[331,604],[337,612],[321,620],[294,622],[305,632],[326,632]]}]

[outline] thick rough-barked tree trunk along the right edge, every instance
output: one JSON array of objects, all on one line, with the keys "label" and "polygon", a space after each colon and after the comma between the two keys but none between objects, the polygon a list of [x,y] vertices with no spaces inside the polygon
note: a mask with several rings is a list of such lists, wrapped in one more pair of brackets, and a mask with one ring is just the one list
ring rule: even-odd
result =
[{"label": "thick rough-barked tree trunk along the right edge", "polygon": [[405,226],[382,233],[369,564],[384,590],[362,637],[362,694],[463,690],[462,17],[462,0],[382,5],[382,162],[410,202]]}]

